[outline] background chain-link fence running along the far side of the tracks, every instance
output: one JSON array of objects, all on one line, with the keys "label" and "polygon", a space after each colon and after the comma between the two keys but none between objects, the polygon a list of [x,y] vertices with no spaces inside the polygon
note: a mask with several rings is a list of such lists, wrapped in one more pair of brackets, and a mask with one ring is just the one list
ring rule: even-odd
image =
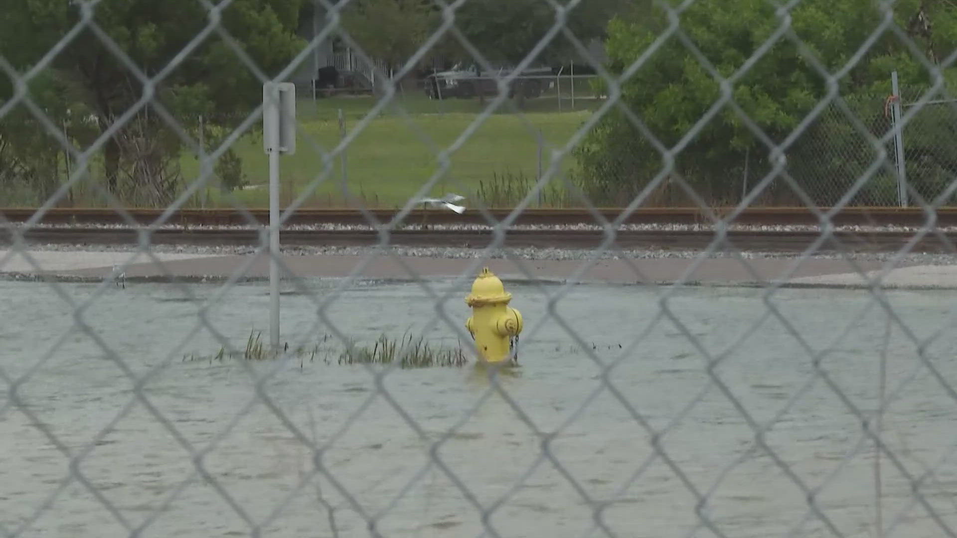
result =
[{"label": "background chain-link fence running along the far side of the tracks", "polygon": [[[451,77],[451,75],[450,75]],[[499,78],[463,78],[460,83],[444,90],[436,90],[434,76],[396,82],[395,95],[389,98],[390,107],[381,110],[375,117],[367,118],[367,112],[381,100],[381,95],[371,88],[319,88],[314,81],[298,84],[300,117],[304,130],[322,146],[333,146],[345,140],[350,125],[362,120],[367,123],[367,136],[348,140],[349,152],[354,159],[363,159],[375,152],[382,139],[396,130],[404,129],[403,115],[413,117],[438,116],[443,118],[441,139],[450,139],[456,132],[449,125],[461,128],[472,118],[483,113],[490,101],[498,95]],[[443,82],[443,85],[447,82]],[[529,84],[534,85],[529,89]],[[460,91],[458,86],[476,86],[481,91]],[[479,131],[472,141],[481,141],[480,149],[463,160],[467,165],[456,167],[460,191],[478,199],[490,207],[511,207],[532,191],[534,181],[542,177],[548,163],[548,155],[562,139],[575,132],[580,123],[590,114],[602,108],[607,100],[607,91],[600,78],[594,76],[541,76],[517,77],[509,89],[510,101],[503,105],[501,114],[496,114],[486,129]],[[436,93],[437,92],[437,93]],[[521,95],[520,95],[521,94]],[[903,109],[910,110],[923,92],[908,91]],[[910,96],[910,97],[908,97]],[[911,99],[912,97],[912,99]],[[930,101],[927,107],[917,107],[902,132],[903,156],[906,161],[904,182],[907,190],[913,190],[924,200],[934,199],[946,191],[951,168],[946,154],[952,133],[949,114],[952,112],[946,100]],[[787,169],[794,182],[804,194],[798,194],[790,182],[774,177],[763,186],[753,199],[748,197],[751,187],[768,177],[774,167],[766,152],[759,147],[729,148],[721,156],[702,157],[708,166],[689,163],[683,169],[685,181],[694,187],[695,195],[712,207],[734,206],[747,199],[750,207],[794,207],[805,203],[804,196],[817,206],[835,205],[894,207],[901,205],[894,147],[893,121],[890,114],[890,98],[883,95],[856,95],[840,104],[832,103],[812,118],[792,141],[785,156]],[[392,109],[394,106],[395,109]],[[76,114],[70,108],[62,117],[51,118],[65,140],[77,147],[89,146],[100,133],[100,121],[95,114]],[[551,118],[539,115],[554,114]],[[23,111],[11,111],[4,123],[2,190],[8,206],[38,206],[56,189],[68,182],[76,168],[67,149],[55,137],[50,136],[39,120]],[[118,194],[129,206],[155,207],[190,189],[189,177],[199,167],[200,156],[190,151],[176,132],[176,128],[157,119],[149,119],[144,112],[137,117],[140,123],[131,123],[114,142],[121,149],[113,168],[107,163],[107,149],[102,147],[91,153],[85,161],[85,180],[72,184],[67,195],[58,200],[63,207],[109,207],[109,196],[98,191],[100,185],[115,185],[113,194]],[[507,141],[509,151],[495,145],[501,140],[501,130],[524,123],[522,117],[533,118],[525,127],[527,132]],[[518,118],[517,118],[518,117]],[[195,114],[171,117],[172,123],[184,129],[195,144],[209,151],[219,146],[225,137],[243,123],[246,114]],[[536,122],[535,119],[539,120]],[[610,122],[611,124],[611,122]],[[141,129],[137,132],[137,128]],[[631,127],[628,127],[631,128]],[[152,134],[149,144],[144,142],[144,130]],[[514,131],[512,131],[514,134]],[[433,132],[424,132],[434,136]],[[628,133],[634,141],[640,141],[637,132]],[[380,138],[381,137],[381,138]],[[637,137],[637,138],[634,138]],[[219,195],[221,192],[237,192],[246,204],[261,203],[256,190],[265,183],[265,169],[259,167],[252,155],[256,133],[243,137],[238,145],[229,146],[225,154],[214,164],[215,174],[210,185],[190,196],[184,207],[229,208],[233,202]],[[487,140],[485,140],[487,139]],[[875,140],[884,141],[876,148]],[[888,142],[889,141],[889,142]],[[443,140],[445,142],[445,140]],[[111,142],[112,143],[112,142]],[[479,146],[476,143],[474,146]],[[471,149],[471,148],[469,148]],[[606,150],[607,151],[607,150]],[[881,156],[881,151],[886,152]],[[370,182],[372,192],[364,189],[353,196],[344,196],[330,189],[306,190],[313,179],[312,168],[305,160],[297,160],[285,174],[283,204],[291,203],[300,194],[306,199],[304,207],[401,207],[406,201],[404,193],[385,196],[382,191],[385,170],[402,167],[410,159],[429,159],[431,149],[418,143],[400,146],[394,154],[383,159],[381,167],[360,167],[353,171],[352,183],[363,187]],[[648,168],[649,157],[655,164],[659,157],[641,151],[623,155],[599,153],[600,163],[592,163],[588,156],[580,162],[570,159],[561,171],[568,174],[570,191],[585,191],[591,202],[600,206],[627,205],[638,192],[655,182],[655,167]],[[883,161],[882,161],[883,159]],[[882,166],[870,172],[876,162]],[[582,164],[586,166],[582,167]],[[345,161],[345,168],[350,168]],[[703,169],[701,169],[703,168]],[[416,170],[417,172],[418,170]],[[347,172],[346,172],[347,173]],[[848,199],[845,194],[867,174],[868,180],[853,189]],[[394,177],[393,173],[389,174]],[[417,174],[401,181],[411,181]],[[113,178],[113,179],[110,179]],[[390,177],[391,179],[391,177]],[[330,182],[331,183],[331,182]],[[215,184],[215,185],[212,185]],[[253,192],[242,193],[242,190]],[[338,191],[338,190],[336,190]],[[576,198],[564,183],[551,189],[552,195],[546,207],[582,207],[585,203]],[[492,192],[492,194],[489,194]],[[906,201],[905,201],[906,202]],[[942,200],[949,205],[950,197]],[[695,200],[688,191],[672,181],[657,183],[654,191],[644,202],[646,206],[694,207]],[[907,205],[904,203],[903,205]]]}]

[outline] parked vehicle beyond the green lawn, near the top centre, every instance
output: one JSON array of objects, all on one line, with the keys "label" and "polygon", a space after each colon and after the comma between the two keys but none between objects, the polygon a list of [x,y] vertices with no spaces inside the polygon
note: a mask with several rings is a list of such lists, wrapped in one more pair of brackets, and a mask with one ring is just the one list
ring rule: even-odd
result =
[{"label": "parked vehicle beyond the green lawn, near the top centre", "polygon": [[[476,63],[457,63],[448,71],[440,71],[428,76],[425,80],[425,92],[431,99],[450,97],[466,99],[479,95],[498,95],[499,79],[513,73],[515,66],[497,63],[491,67],[491,71],[486,71]],[[554,81],[550,79],[551,74],[550,67],[525,68],[518,78],[511,81],[508,96],[515,97],[521,92],[524,98],[540,97],[543,90],[554,84]]]}]

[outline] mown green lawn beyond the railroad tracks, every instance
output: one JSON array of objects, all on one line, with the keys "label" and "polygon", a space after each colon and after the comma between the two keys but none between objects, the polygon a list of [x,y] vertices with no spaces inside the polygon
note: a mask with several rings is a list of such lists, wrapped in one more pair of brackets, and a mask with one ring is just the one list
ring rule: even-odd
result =
[{"label": "mown green lawn beyond the railroad tracks", "polygon": [[[337,120],[343,110],[348,132],[354,132],[367,114],[374,98],[350,97],[300,101],[300,137],[294,155],[281,159],[282,201],[288,203],[306,185],[323,172],[323,151],[331,151],[340,142]],[[438,182],[433,194],[457,192],[474,198],[479,184],[494,177],[523,176],[534,179],[538,173],[537,130],[545,141],[543,159],[548,165],[551,147],[564,146],[589,118],[590,112],[536,112],[545,103],[530,100],[525,112],[503,112],[489,116],[450,155],[450,173]],[[581,106],[589,104],[587,100]],[[352,196],[360,197],[368,207],[398,207],[408,200],[439,169],[437,154],[456,143],[456,139],[478,118],[478,100],[401,101],[409,113],[405,118],[394,110],[369,121],[346,149],[346,184]],[[578,104],[576,102],[576,104]],[[593,103],[591,103],[593,104]],[[444,107],[441,113],[428,107]],[[312,110],[309,110],[309,108]],[[451,109],[457,108],[456,111]],[[568,107],[570,108],[570,107]],[[550,147],[549,147],[550,146]],[[249,207],[267,206],[268,160],[261,139],[243,138],[235,149],[243,159],[250,188],[236,195]],[[306,207],[343,207],[343,169],[339,157],[334,168],[314,191]],[[564,169],[572,166],[566,159]],[[185,157],[183,171],[189,181],[197,173],[196,159]],[[487,187],[487,185],[486,185]],[[227,204],[218,191],[209,191],[207,207]],[[474,200],[473,200],[474,201]]]}]

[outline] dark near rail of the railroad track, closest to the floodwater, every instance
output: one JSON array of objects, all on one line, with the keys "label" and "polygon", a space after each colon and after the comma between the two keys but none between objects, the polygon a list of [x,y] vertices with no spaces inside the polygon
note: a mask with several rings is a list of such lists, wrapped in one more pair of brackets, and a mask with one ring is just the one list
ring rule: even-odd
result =
[{"label": "dark near rail of the railroad track, closest to the floodwater", "polygon": [[[153,245],[191,246],[256,246],[262,243],[264,229],[161,229],[150,233]],[[855,233],[838,231],[818,245],[814,252],[897,252],[915,236],[913,232],[881,231]],[[94,227],[34,228],[26,230],[24,238],[32,244],[136,245],[140,232],[136,229]],[[614,245],[621,249],[700,250],[708,248],[716,235],[708,231],[620,231]],[[943,237],[943,238],[942,238]],[[819,232],[761,232],[729,231],[728,241],[737,249],[763,252],[800,253],[812,247],[820,238]],[[412,247],[471,247],[484,248],[492,243],[490,231],[450,230],[396,230],[389,233],[389,245]],[[505,234],[503,246],[509,248],[552,247],[594,249],[603,244],[600,231],[577,230],[512,230]],[[11,232],[0,232],[0,241],[9,244]],[[374,230],[282,232],[286,246],[374,246],[383,242],[383,236]],[[952,253],[957,244],[957,232],[938,232],[924,235],[908,252]],[[726,250],[721,245],[718,250]]]}]

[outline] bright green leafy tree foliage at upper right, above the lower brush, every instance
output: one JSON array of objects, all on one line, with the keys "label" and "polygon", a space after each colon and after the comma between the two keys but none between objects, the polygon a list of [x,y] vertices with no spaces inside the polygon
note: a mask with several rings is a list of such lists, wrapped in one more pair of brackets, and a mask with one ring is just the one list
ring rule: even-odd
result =
[{"label": "bright green leafy tree foliage at upper right, above the lower brush", "polygon": [[[678,5],[674,2],[673,5]],[[722,77],[737,78],[731,91],[734,101],[775,142],[783,142],[827,92],[826,79],[787,36],[766,47],[765,43],[784,24],[776,7],[766,0],[700,0],[679,16],[680,29],[695,44]],[[924,50],[931,61],[950,54],[957,45],[957,6],[946,2],[900,0],[895,21]],[[648,56],[634,77],[623,85],[623,101],[644,121],[666,147],[681,142],[705,117],[722,95],[719,82],[677,35],[658,43],[669,26],[659,9],[640,15],[618,17],[608,29],[607,53],[612,72],[622,73],[635,60]],[[877,136],[888,123],[882,98],[890,94],[890,74],[897,70],[907,84],[927,84],[929,75],[918,57],[901,39],[883,32],[871,45],[883,18],[878,2],[871,0],[804,0],[790,11],[790,28],[830,73],[837,73],[866,47],[854,66],[839,79],[842,96],[856,107],[859,118]],[[924,24],[930,21],[932,24]],[[751,63],[746,65],[746,62]],[[831,112],[834,112],[832,110]],[[827,159],[819,159],[814,147],[821,139],[835,155],[859,155],[869,165],[873,149],[858,147],[862,136],[848,132],[850,121],[826,114],[804,131],[789,148],[789,169],[805,178],[824,175]],[[767,146],[757,141],[740,115],[731,107],[721,110],[703,125],[697,136],[680,152],[675,172],[696,191],[716,203],[740,199],[742,168],[750,155],[751,177],[767,172]],[[795,163],[795,156],[806,156]],[[627,203],[663,168],[655,146],[642,136],[623,114],[607,116],[578,151],[583,185],[590,195],[606,203]],[[850,157],[846,157],[850,158]],[[857,163],[860,165],[861,163]],[[856,172],[863,168],[857,166]],[[840,174],[840,169],[832,169]],[[845,170],[846,171],[846,170]],[[847,172],[850,173],[850,172]],[[847,173],[845,175],[847,175]],[[800,178],[797,178],[800,180]],[[856,176],[833,180],[833,192],[846,189]],[[756,181],[757,179],[755,179]],[[782,189],[787,190],[783,185]],[[821,200],[826,203],[828,200]]]}]

